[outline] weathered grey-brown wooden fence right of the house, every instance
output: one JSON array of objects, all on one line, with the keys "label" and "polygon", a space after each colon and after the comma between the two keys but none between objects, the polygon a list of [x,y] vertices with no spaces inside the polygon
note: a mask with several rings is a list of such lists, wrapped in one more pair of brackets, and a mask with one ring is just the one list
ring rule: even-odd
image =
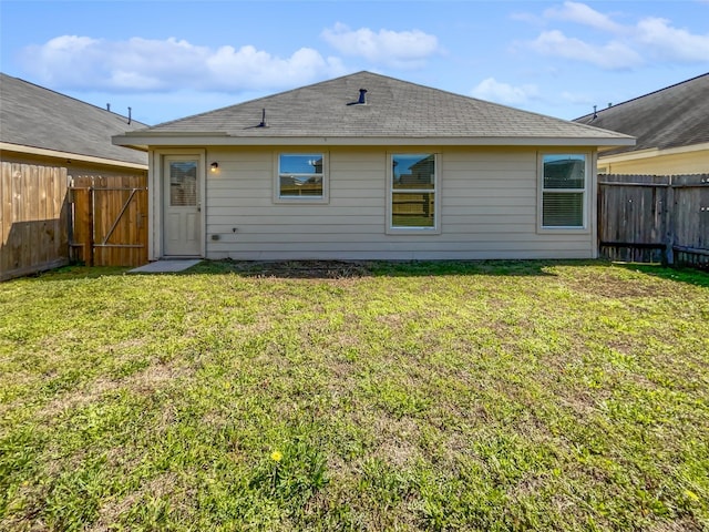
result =
[{"label": "weathered grey-brown wooden fence right of the house", "polygon": [[599,175],[600,254],[709,267],[709,174]]}]

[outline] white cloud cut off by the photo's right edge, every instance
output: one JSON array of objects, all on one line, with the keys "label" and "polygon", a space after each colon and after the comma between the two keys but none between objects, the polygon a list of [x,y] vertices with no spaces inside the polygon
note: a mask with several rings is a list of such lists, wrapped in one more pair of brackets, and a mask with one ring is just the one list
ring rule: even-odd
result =
[{"label": "white cloud cut off by the photo's right edge", "polygon": [[672,28],[665,19],[647,18],[638,22],[637,41],[659,60],[709,62],[709,33],[695,35]]}]

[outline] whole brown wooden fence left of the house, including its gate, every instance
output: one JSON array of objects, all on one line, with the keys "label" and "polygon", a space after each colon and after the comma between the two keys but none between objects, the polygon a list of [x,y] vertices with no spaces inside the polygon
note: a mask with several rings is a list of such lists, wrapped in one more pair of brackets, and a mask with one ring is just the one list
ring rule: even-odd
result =
[{"label": "whole brown wooden fence left of the house, including its gate", "polygon": [[66,168],[2,162],[0,280],[80,260],[147,263],[145,176],[71,177]]}]

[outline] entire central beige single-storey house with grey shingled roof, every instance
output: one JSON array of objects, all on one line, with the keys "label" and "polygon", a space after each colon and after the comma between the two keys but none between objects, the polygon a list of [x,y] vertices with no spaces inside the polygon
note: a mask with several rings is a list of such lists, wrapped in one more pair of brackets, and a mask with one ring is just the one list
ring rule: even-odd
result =
[{"label": "entire central beige single-storey house with grey shingled roof", "polygon": [[116,135],[150,153],[150,259],[589,258],[630,136],[360,72]]}]

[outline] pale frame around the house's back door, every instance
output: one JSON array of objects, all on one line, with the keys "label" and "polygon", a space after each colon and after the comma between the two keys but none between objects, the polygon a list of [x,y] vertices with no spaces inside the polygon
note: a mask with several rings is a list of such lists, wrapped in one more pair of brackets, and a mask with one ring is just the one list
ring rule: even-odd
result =
[{"label": "pale frame around the house's back door", "polygon": [[165,190],[164,172],[165,172],[165,158],[169,156],[179,156],[185,158],[196,158],[197,164],[197,181],[198,181],[198,195],[202,208],[199,212],[201,229],[201,247],[199,257],[206,256],[206,186],[207,186],[207,172],[206,172],[206,151],[199,149],[163,149],[154,150],[150,153],[150,171],[148,171],[148,204],[152,211],[152,215],[148,218],[151,227],[148,227],[148,260],[158,260],[165,256],[164,245],[164,216],[165,216],[165,201],[164,197],[169,191]]}]

